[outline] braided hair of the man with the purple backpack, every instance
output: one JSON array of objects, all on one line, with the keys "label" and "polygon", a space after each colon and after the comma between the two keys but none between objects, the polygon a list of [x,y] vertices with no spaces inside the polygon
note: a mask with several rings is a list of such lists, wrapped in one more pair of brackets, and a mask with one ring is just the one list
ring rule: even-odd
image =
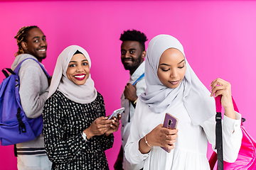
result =
[{"label": "braided hair of the man with the purple backpack", "polygon": [[24,50],[21,47],[21,42],[22,41],[26,42],[26,38],[28,37],[28,31],[33,28],[38,28],[38,26],[24,26],[18,30],[17,35],[14,37],[16,39],[17,45],[18,45],[18,51],[15,53],[15,57],[17,55],[24,54]]}]

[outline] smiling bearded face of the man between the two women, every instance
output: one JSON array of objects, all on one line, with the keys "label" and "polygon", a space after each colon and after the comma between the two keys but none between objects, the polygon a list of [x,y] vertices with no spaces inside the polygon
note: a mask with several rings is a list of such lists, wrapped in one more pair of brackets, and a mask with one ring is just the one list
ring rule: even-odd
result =
[{"label": "smiling bearded face of the man between the two women", "polygon": [[140,64],[144,61],[146,51],[142,50],[138,41],[126,40],[121,45],[121,60],[124,69],[130,71],[132,75]]}]

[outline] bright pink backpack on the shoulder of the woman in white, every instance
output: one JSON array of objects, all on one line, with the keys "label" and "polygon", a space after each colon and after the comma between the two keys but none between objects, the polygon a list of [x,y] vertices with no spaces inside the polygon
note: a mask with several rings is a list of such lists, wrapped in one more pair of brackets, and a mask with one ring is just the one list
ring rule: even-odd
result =
[{"label": "bright pink backpack on the shoulder of the woman in white", "polygon": [[[216,98],[216,109],[217,107],[219,107],[217,106],[218,103],[220,103],[220,98]],[[235,111],[239,112],[234,99],[233,99],[233,106]],[[256,170],[256,141],[248,134],[248,132],[246,132],[245,128],[242,126],[242,123],[241,123],[241,130],[242,130],[242,145],[238,153],[238,159],[236,159],[236,161],[233,163],[223,162],[223,168],[227,170],[231,170],[231,169]],[[213,170],[216,161],[217,161],[217,154],[213,152],[213,154],[209,159],[211,170]],[[222,169],[222,167],[218,169],[220,170]]]}]

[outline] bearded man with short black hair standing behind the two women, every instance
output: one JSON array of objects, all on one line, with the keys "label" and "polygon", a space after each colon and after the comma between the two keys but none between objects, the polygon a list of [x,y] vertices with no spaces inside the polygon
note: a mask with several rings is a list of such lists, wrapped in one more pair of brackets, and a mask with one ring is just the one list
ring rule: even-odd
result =
[{"label": "bearded man with short black hair standing behind the two women", "polygon": [[121,118],[122,146],[114,164],[114,169],[135,170],[143,169],[143,164],[130,164],[124,155],[124,146],[129,137],[130,125],[134,115],[137,98],[146,90],[144,80],[144,57],[146,57],[146,35],[138,30],[127,30],[121,34],[121,60],[124,69],[129,70],[130,79],[124,88],[121,105],[125,108]]}]

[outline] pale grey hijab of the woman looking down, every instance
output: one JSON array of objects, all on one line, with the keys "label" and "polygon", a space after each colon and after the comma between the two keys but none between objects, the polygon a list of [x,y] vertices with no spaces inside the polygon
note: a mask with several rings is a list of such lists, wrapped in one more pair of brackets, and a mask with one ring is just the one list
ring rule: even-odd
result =
[{"label": "pale grey hijab of the woman looking down", "polygon": [[171,35],[157,35],[149,42],[145,61],[146,92],[139,98],[155,113],[163,112],[183,98],[192,123],[199,125],[215,115],[214,98],[210,97],[210,92],[193,72],[186,57],[186,73],[181,84],[176,89],[170,89],[161,83],[157,76],[159,60],[162,53],[169,48],[180,50],[185,57],[181,42]]}]

